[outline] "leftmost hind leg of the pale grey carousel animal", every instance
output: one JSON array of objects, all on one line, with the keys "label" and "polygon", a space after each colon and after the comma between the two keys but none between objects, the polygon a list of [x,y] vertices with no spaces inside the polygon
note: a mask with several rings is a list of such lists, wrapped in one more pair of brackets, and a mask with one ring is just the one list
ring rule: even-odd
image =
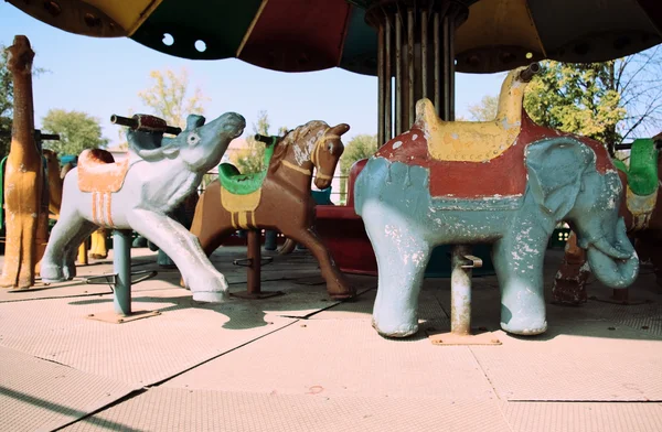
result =
[{"label": "leftmost hind leg of the pale grey carousel animal", "polygon": [[82,218],[75,209],[63,212],[60,215],[57,224],[55,224],[51,231],[51,238],[46,245],[41,263],[41,277],[44,282],[62,282],[66,280],[67,278],[63,271],[64,267],[67,267],[67,276],[71,276],[68,259],[72,253],[72,245],[75,257],[75,252],[82,241],[79,239],[81,234],[84,233],[85,237],[89,235],[87,233],[88,229],[86,229],[89,225],[90,223]]}]

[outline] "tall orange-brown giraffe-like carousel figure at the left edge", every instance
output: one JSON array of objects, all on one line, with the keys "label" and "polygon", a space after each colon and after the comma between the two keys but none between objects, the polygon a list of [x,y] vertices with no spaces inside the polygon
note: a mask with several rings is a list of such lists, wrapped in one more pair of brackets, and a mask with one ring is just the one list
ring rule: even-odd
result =
[{"label": "tall orange-brown giraffe-like carousel figure at the left edge", "polygon": [[[4,172],[7,245],[0,287],[29,288],[34,284],[40,245],[47,235],[47,214],[42,207],[43,163],[34,139],[32,60],[34,52],[25,36],[15,36],[8,48],[7,67],[12,75],[13,125]],[[41,228],[38,231],[38,226]],[[43,250],[43,246],[41,247]]]}]

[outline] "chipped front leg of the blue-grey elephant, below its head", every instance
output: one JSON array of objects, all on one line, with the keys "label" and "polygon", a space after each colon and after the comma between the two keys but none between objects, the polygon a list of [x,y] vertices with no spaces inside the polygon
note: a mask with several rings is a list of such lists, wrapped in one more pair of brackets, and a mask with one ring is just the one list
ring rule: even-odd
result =
[{"label": "chipped front leg of the blue-grey elephant, below its head", "polygon": [[543,262],[548,236],[519,224],[517,231],[496,241],[492,261],[501,287],[501,328],[519,335],[547,330]]}]

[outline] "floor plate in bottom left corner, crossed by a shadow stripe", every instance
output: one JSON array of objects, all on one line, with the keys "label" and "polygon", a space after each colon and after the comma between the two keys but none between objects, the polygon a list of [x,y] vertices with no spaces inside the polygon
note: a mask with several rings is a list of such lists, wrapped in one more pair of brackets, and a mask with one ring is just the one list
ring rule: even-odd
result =
[{"label": "floor plate in bottom left corner, crossed by a shadow stripe", "polygon": [[0,431],[52,430],[134,390],[124,382],[0,347]]}]

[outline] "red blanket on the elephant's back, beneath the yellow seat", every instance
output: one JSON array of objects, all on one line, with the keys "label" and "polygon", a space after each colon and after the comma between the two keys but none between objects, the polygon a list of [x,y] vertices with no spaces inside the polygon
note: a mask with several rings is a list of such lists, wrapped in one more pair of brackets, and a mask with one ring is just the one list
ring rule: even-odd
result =
[{"label": "red blanket on the elephant's back, beneath the yellow seat", "polygon": [[416,127],[388,141],[375,156],[428,169],[433,197],[508,197],[523,195],[526,190],[526,147],[545,138],[558,137],[572,137],[592,148],[598,172],[613,170],[607,151],[599,142],[535,125],[525,112],[522,114],[522,129],[513,145],[484,162],[433,159],[424,131]]}]

